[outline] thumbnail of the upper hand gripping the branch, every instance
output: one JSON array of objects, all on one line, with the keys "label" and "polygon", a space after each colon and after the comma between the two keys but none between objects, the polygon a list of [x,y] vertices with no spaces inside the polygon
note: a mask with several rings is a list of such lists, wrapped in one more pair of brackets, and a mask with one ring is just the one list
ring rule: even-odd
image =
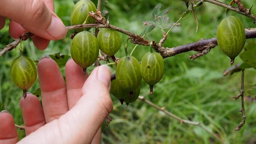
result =
[{"label": "thumbnail of the upper hand gripping the branch", "polygon": [[67,34],[66,26],[61,20],[55,18],[54,16],[52,16],[52,22],[46,31],[55,40],[60,40]]}]

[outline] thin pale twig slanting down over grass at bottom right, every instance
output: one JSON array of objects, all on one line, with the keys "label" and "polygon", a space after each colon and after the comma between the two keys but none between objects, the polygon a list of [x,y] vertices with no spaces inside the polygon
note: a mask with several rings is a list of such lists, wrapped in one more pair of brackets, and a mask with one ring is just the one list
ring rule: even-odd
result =
[{"label": "thin pale twig slanting down over grass at bottom right", "polygon": [[175,118],[176,120],[179,120],[180,123],[186,123],[186,124],[192,124],[192,125],[196,125],[196,126],[199,126],[201,127],[202,129],[204,129],[206,132],[208,132],[209,134],[211,134],[212,136],[214,136],[217,140],[219,140],[220,142],[224,143],[224,141],[219,138],[216,134],[214,134],[213,132],[211,132],[210,130],[208,130],[205,126],[203,126],[202,124],[200,124],[199,122],[193,122],[193,121],[190,121],[190,120],[184,120],[170,112],[168,112],[167,110],[165,110],[165,108],[161,108],[160,106],[157,106],[156,104],[146,100],[144,98],[144,96],[139,96],[139,99],[142,100],[143,102],[146,102],[147,104],[149,104],[150,106],[153,106],[154,108],[164,112],[165,114],[167,114],[168,116],[172,117],[172,118]]}]

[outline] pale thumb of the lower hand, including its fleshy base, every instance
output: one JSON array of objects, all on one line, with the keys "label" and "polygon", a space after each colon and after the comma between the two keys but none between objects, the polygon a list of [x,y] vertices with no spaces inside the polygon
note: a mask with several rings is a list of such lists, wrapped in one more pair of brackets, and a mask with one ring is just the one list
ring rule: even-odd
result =
[{"label": "pale thumb of the lower hand, including its fleshy base", "polygon": [[107,66],[94,68],[84,83],[82,97],[76,105],[59,119],[23,138],[21,142],[91,143],[113,108],[109,94],[110,77]]}]

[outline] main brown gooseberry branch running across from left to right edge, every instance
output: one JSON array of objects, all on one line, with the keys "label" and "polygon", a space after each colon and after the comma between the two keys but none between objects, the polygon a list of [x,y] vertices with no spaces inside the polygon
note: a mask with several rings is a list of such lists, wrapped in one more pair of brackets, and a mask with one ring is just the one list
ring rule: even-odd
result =
[{"label": "main brown gooseberry branch running across from left to right edge", "polygon": [[[81,24],[81,25],[75,25],[75,26],[67,26],[66,29],[68,31],[68,30],[74,30],[74,29],[78,29],[78,28],[88,28],[88,27],[109,28],[109,29],[116,30],[118,32],[121,32],[123,34],[130,36],[132,43],[134,43],[134,44],[140,44],[140,45],[146,45],[146,46],[149,46],[149,44],[150,44],[150,41],[146,40],[145,38],[142,38],[141,36],[139,36],[137,34],[129,32],[128,30],[124,30],[122,28],[118,28],[118,27],[112,26],[112,25],[106,26],[103,24]],[[246,39],[256,38],[256,28],[245,29],[245,31],[246,31]],[[32,35],[33,34],[28,33],[26,36],[21,36],[21,38],[23,40],[26,40]],[[18,45],[19,42],[20,42],[20,38],[15,40],[11,44],[8,44],[5,48],[3,48],[2,51],[0,51],[0,56],[2,56],[2,54],[4,54],[6,51],[10,51],[10,50],[14,49]],[[175,56],[176,54],[181,54],[181,53],[188,52],[191,50],[202,53],[202,54],[196,54],[195,56],[190,57],[190,58],[195,59],[202,55],[207,54],[207,52],[210,51],[211,48],[214,48],[217,45],[218,45],[217,39],[210,38],[210,39],[200,39],[197,42],[185,44],[183,46],[177,46],[174,48],[159,47],[158,44],[156,44],[156,42],[153,41],[152,48],[154,48],[156,51],[160,52],[160,54],[162,55],[163,58]]]}]

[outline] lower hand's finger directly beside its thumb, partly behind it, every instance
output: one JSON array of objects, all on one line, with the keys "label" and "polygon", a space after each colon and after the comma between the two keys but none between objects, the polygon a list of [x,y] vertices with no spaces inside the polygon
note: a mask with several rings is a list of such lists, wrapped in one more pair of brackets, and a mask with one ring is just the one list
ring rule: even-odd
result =
[{"label": "lower hand's finger directly beside its thumb, partly behind it", "polygon": [[84,76],[83,69],[71,59],[66,63],[65,76],[68,108],[71,109],[82,96],[82,87],[88,78],[88,73],[86,72]]}]

